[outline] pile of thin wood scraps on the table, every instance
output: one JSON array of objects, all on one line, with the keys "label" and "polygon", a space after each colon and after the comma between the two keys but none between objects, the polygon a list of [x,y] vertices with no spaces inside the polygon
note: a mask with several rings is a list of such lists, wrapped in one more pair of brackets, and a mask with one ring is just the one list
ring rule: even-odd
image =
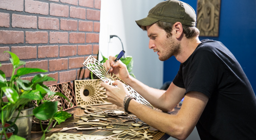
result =
[{"label": "pile of thin wood scraps on the table", "polygon": [[[150,127],[147,124],[143,123],[141,120],[139,120],[136,116],[126,115],[124,111],[121,111],[119,109],[97,106],[83,106],[81,108],[84,109],[84,114],[82,116],[75,115],[76,117],[80,117],[80,120],[78,122],[75,122],[76,126],[70,128],[65,127],[59,132],[67,131],[70,129],[99,129],[112,131],[112,135],[98,137],[99,139],[151,139],[153,138],[152,133],[155,133],[154,131],[150,131]],[[113,121],[111,121],[113,117],[119,117],[122,119],[124,118],[125,120],[120,123],[114,123]],[[130,121],[133,121],[133,123],[129,123],[129,125],[125,124],[126,122]],[[58,135],[61,134],[62,133],[58,133]],[[85,139],[88,139],[89,137]],[[81,136],[80,139],[82,139]]]}]

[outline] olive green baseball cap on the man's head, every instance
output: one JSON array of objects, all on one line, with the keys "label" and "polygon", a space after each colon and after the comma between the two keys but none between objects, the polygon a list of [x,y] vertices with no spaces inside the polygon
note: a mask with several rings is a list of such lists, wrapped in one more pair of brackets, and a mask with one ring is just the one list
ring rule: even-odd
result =
[{"label": "olive green baseball cap on the man's head", "polygon": [[196,26],[197,15],[188,4],[177,0],[169,0],[157,4],[148,12],[147,17],[135,22],[141,27],[152,25],[157,21],[181,22],[184,25]]}]

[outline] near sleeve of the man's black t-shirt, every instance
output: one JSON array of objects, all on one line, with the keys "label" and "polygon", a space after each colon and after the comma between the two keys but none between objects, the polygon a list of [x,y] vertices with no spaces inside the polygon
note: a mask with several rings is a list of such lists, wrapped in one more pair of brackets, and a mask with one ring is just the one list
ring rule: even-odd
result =
[{"label": "near sleeve of the man's black t-shirt", "polygon": [[221,76],[223,65],[217,55],[209,50],[200,50],[196,52],[186,73],[187,78],[184,81],[186,93],[197,91],[205,94],[209,98],[217,89],[218,76]]}]

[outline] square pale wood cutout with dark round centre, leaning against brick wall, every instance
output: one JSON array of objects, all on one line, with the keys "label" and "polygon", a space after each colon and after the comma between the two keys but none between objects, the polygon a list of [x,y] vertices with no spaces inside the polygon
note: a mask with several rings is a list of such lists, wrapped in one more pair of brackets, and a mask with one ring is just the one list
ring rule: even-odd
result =
[{"label": "square pale wood cutout with dark round centre, leaning against brick wall", "polygon": [[75,80],[76,102],[81,105],[111,104],[106,99],[105,88],[100,86],[100,79]]}]

